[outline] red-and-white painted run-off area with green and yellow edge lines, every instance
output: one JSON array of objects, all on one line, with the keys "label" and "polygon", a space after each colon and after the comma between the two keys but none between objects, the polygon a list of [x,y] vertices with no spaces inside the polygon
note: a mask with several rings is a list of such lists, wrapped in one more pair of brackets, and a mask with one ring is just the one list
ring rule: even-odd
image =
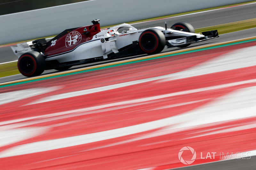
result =
[{"label": "red-and-white painted run-off area with green and yellow edge lines", "polygon": [[[254,37],[2,83],[0,169],[158,170],[250,159],[255,53]],[[196,155],[181,152],[187,146]]]}]

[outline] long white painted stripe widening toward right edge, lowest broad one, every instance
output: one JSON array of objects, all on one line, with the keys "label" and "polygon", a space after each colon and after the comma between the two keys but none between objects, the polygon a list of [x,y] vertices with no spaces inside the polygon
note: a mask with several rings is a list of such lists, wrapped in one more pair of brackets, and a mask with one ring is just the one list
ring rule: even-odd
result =
[{"label": "long white painted stripe widening toward right edge, lowest broad one", "polygon": [[[249,101],[249,102],[248,102]],[[152,136],[160,136],[166,133],[175,133],[185,128],[191,129],[198,125],[231,121],[256,116],[256,86],[237,90],[234,93],[220,97],[219,100],[204,105],[201,108],[185,114],[176,115],[152,122],[142,123],[129,127],[101,131],[91,134],[65,137],[60,139],[45,140],[29,144],[18,145],[0,152],[0,158],[18,156],[29,153],[43,152],[81,144],[123,137],[135,133],[145,132],[162,127],[169,127],[163,133],[153,132]],[[246,114],[244,114],[246,113]],[[167,131],[166,131],[167,130]],[[143,139],[143,137],[141,137]],[[32,148],[32,149],[31,149]]]}]

